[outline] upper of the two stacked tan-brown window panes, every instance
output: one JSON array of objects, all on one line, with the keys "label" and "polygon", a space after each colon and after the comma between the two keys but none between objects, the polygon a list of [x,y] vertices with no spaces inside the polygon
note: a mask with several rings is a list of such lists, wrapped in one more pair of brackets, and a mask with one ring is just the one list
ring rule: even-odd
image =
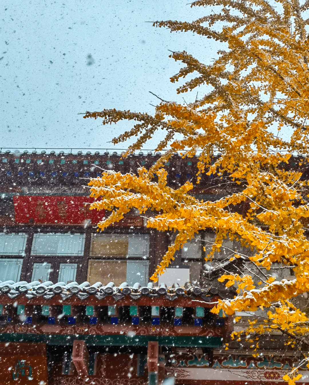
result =
[{"label": "upper of the two stacked tan-brown window panes", "polygon": [[126,257],[128,239],[127,234],[92,234],[90,255]]}]

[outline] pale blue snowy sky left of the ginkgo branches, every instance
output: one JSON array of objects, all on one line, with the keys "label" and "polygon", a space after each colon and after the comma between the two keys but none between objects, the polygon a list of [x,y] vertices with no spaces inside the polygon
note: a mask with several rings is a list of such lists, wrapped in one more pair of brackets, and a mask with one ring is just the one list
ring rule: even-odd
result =
[{"label": "pale blue snowy sky left of the ginkgo branches", "polygon": [[[10,0],[1,6],[1,146],[111,148],[131,124],[102,126],[79,112],[104,108],[153,113],[158,99],[177,95],[169,78],[183,65],[168,50],[209,63],[216,42],[170,33],[146,21],[191,21],[205,15],[188,0]],[[188,78],[186,80],[191,79]],[[200,90],[202,92],[202,90]],[[160,137],[150,141],[154,148]],[[2,147],[2,148],[3,148]],[[126,147],[125,145],[123,148]]]}]

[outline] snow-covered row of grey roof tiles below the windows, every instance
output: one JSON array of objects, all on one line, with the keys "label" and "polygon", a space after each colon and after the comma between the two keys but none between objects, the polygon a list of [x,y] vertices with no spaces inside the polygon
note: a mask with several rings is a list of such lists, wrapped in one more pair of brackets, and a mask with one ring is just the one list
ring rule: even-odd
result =
[{"label": "snow-covered row of grey roof tiles below the windows", "polygon": [[81,284],[71,282],[65,284],[64,282],[52,283],[51,281],[44,283],[39,281],[30,283],[25,281],[16,283],[14,281],[0,281],[0,295],[3,294],[6,294],[11,299],[24,295],[29,300],[38,296],[43,296],[49,300],[57,294],[63,299],[77,296],[80,300],[85,300],[93,295],[99,300],[106,296],[112,296],[115,300],[120,300],[125,296],[136,300],[141,296],[150,298],[164,296],[173,301],[179,296],[183,296],[190,298],[201,297],[204,301],[209,302],[216,295],[222,298],[233,298],[232,294],[234,293],[231,293],[230,290],[219,292],[218,289],[214,287],[200,288],[199,286],[191,285],[190,282],[186,282],[183,286],[174,283],[168,287],[165,283],[161,283],[160,286],[154,286],[152,282],[149,282],[147,286],[141,286],[139,283],[129,286],[126,282],[123,282],[120,286],[115,286],[113,282],[104,286],[101,282],[90,285],[89,282],[83,282]]}]

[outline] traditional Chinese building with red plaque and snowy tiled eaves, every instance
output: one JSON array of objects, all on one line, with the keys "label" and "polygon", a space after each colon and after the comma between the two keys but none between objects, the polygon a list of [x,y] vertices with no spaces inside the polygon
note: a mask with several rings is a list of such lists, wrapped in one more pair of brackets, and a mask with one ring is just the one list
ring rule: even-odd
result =
[{"label": "traditional Chinese building with red plaque and snowy tiled eaves", "polygon": [[[100,175],[98,167],[134,172],[159,155],[0,155],[2,384],[253,385],[281,382],[297,362],[292,350],[280,357],[279,336],[265,338],[257,358],[237,342],[225,352],[233,320],[210,310],[234,292],[219,285],[218,268],[203,271],[202,241],[211,231],[188,243],[157,285],[149,277],[172,234],[146,228],[135,212],[97,233],[109,213],[89,210],[87,179]],[[224,175],[203,174],[195,185],[196,162],[175,154],[166,164],[169,184],[191,180],[204,200],[239,188]]]}]

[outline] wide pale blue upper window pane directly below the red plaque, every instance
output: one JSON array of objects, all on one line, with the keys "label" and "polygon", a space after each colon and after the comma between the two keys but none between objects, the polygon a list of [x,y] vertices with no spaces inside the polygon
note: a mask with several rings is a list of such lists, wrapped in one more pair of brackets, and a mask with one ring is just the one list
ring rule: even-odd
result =
[{"label": "wide pale blue upper window pane directly below the red plaque", "polygon": [[85,234],[34,234],[31,255],[72,255],[84,254]]}]

